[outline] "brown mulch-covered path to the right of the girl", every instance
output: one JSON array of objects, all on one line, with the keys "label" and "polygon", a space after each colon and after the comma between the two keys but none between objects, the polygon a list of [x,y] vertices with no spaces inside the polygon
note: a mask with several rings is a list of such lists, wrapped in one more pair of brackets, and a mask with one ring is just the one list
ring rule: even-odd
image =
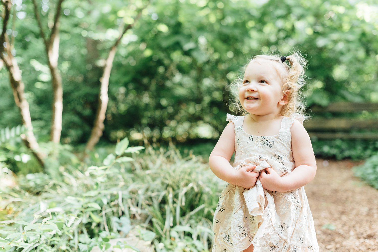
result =
[{"label": "brown mulch-covered path to the right of the girl", "polygon": [[359,164],[319,159],[305,186],[321,252],[378,252],[378,190],[353,176]]}]

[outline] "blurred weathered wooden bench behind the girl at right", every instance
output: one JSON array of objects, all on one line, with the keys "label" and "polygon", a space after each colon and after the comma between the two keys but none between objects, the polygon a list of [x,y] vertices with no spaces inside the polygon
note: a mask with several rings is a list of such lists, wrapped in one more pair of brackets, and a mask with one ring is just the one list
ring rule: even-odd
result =
[{"label": "blurred weathered wooden bench behind the girl at right", "polygon": [[378,104],[335,102],[311,107],[303,123],[312,139],[378,140]]}]

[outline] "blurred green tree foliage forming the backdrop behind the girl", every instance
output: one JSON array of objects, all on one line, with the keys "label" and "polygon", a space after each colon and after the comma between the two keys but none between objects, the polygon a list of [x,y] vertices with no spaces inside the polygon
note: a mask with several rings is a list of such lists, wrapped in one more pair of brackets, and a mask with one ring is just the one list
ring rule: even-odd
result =
[{"label": "blurred green tree foliage forming the backdrop behind the girl", "polygon": [[[103,59],[119,34],[119,24],[132,22],[144,4],[142,0],[126,5],[120,0],[64,1],[59,57],[64,80],[63,143],[87,141]],[[42,5],[47,32],[55,3]],[[373,0],[152,1],[119,44],[103,139],[217,139],[229,112],[228,83],[248,58],[269,51],[288,54],[299,49],[306,55],[308,105],[325,106],[330,100],[376,102],[376,8]],[[31,3],[16,1],[15,10],[14,53],[33,126],[45,141],[52,97],[44,45]],[[13,127],[22,122],[4,67],[0,80],[0,111],[7,111],[0,127]]]}]

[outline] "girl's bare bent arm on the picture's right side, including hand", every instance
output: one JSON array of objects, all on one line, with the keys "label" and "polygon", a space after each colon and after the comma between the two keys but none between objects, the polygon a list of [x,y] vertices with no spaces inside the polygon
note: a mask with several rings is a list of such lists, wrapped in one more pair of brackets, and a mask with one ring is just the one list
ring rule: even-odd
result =
[{"label": "girl's bare bent arm on the picture's right side, including hand", "polygon": [[295,169],[284,177],[273,169],[266,169],[269,174],[261,172],[260,181],[265,189],[287,192],[304,186],[315,177],[315,155],[307,131],[300,122],[294,121],[290,132]]}]

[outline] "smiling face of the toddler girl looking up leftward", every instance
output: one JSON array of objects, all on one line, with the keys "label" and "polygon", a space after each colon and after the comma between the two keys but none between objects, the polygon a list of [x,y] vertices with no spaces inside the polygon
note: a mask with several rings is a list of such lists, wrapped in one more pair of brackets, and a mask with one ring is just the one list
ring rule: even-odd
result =
[{"label": "smiling face of the toddler girl looking up leftward", "polygon": [[283,66],[272,60],[254,59],[249,63],[239,90],[240,103],[247,112],[259,116],[280,114],[287,102],[279,70],[284,70]]}]

